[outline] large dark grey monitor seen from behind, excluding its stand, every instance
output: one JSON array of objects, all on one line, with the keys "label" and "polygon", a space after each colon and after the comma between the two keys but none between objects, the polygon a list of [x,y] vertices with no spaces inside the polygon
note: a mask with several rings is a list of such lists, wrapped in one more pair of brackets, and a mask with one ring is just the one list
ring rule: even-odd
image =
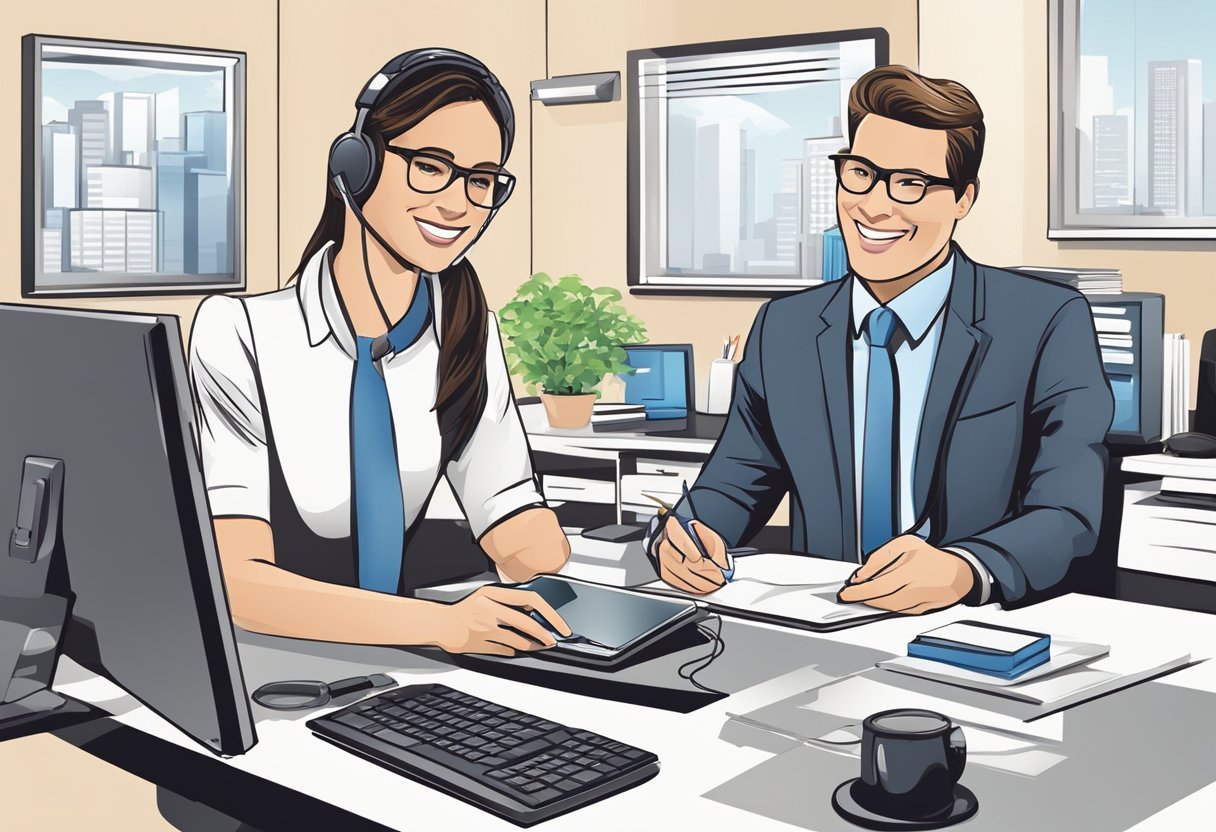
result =
[{"label": "large dark grey monitor seen from behind, excluding its stand", "polygon": [[0,304],[0,525],[63,461],[64,654],[218,754],[255,740],[178,321]]}]

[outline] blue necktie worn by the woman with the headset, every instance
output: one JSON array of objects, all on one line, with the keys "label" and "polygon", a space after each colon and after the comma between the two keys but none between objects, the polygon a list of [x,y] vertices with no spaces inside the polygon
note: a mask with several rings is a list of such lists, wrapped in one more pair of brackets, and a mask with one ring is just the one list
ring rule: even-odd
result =
[{"label": "blue necktie worn by the woman with the headset", "polygon": [[[430,294],[426,279],[421,279],[405,317],[385,336],[393,352],[409,348],[429,321]],[[350,397],[355,545],[359,585],[395,594],[405,549],[405,507],[388,386],[372,359],[375,341],[356,338],[359,355]]]}]

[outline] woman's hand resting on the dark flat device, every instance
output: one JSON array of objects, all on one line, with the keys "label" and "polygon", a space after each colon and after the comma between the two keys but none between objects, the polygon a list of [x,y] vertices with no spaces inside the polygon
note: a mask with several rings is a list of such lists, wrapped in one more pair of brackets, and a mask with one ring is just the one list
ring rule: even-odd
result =
[{"label": "woman's hand resting on the dark flat device", "polygon": [[572,635],[569,625],[536,592],[483,586],[456,603],[439,607],[439,633],[433,643],[449,653],[491,656],[552,647],[557,640],[528,614],[534,609],[558,633]]}]

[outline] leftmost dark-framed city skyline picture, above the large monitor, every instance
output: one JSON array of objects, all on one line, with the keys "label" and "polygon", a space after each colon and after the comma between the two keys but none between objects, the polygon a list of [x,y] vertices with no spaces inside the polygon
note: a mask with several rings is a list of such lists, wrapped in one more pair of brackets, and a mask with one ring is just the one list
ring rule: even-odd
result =
[{"label": "leftmost dark-framed city skyline picture, above the large monitor", "polygon": [[244,288],[246,56],[22,39],[22,296]]}]

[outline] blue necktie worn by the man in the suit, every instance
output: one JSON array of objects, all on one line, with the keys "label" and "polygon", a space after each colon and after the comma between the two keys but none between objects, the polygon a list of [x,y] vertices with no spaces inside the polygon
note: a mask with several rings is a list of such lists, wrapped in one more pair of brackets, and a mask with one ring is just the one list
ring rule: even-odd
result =
[{"label": "blue necktie worn by the man in the suit", "polygon": [[886,307],[866,317],[869,335],[869,371],[866,377],[866,433],[861,457],[862,555],[895,536],[896,426],[895,360],[891,335],[900,319]]}]

